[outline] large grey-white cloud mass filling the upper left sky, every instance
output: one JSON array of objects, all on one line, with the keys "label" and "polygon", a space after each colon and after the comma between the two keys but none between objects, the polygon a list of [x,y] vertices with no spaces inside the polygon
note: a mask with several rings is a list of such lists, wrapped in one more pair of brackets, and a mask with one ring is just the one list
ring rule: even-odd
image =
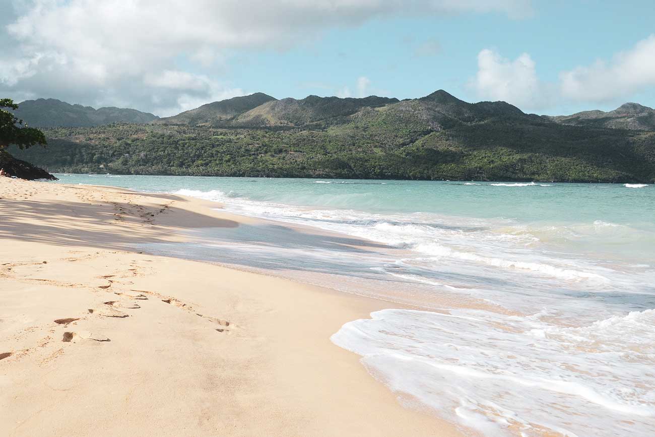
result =
[{"label": "large grey-white cloud mass filling the upper left sky", "polygon": [[399,15],[531,13],[531,0],[0,3],[0,92],[150,111],[176,107],[182,96],[207,102],[236,92],[219,79],[230,50],[291,47],[326,29]]}]

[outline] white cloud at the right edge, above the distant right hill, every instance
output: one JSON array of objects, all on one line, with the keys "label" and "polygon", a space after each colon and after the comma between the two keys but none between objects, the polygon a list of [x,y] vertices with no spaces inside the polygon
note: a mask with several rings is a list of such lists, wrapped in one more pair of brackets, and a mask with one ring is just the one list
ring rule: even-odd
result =
[{"label": "white cloud at the right edge, above the distant right hill", "polygon": [[608,102],[655,86],[655,35],[614,56],[610,62],[598,60],[560,75],[565,98],[588,102]]}]

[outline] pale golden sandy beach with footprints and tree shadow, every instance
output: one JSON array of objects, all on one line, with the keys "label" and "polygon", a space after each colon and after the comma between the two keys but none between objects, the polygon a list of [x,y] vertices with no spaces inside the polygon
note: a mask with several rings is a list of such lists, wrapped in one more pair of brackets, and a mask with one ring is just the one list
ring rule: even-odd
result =
[{"label": "pale golden sandy beach with footprints and tree shadow", "polygon": [[460,435],[329,341],[398,305],[135,249],[210,206],[0,178],[0,435]]}]

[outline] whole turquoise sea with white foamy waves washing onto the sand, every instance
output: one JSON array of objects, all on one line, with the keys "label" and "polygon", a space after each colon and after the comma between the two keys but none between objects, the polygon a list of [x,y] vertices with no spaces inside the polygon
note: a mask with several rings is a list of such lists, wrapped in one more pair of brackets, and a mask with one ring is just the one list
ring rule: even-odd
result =
[{"label": "whole turquoise sea with white foamy waves washing onto the sand", "polygon": [[269,220],[143,250],[398,303],[331,340],[408,408],[471,434],[655,435],[655,185],[56,176]]}]

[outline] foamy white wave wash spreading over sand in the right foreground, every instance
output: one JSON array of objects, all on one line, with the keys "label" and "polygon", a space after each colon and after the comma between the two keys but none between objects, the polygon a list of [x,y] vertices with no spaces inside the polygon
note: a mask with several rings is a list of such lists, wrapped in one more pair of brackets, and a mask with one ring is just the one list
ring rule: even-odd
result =
[{"label": "foamy white wave wash spreading over sand in the right foreground", "polygon": [[331,341],[394,392],[485,435],[654,435],[655,310],[578,328],[549,316],[388,309]]}]

